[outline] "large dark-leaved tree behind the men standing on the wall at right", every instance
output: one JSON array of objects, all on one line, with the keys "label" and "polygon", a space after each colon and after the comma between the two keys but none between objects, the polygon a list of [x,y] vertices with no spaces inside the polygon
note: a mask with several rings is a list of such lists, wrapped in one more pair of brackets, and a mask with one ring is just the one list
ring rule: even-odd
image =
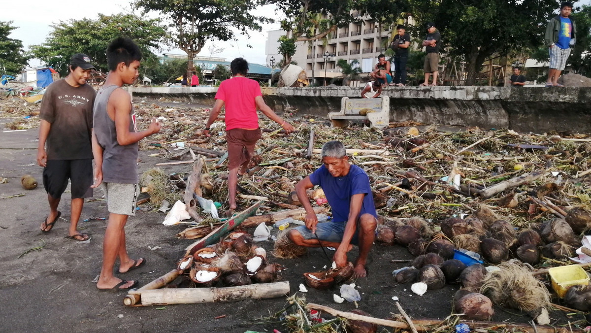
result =
[{"label": "large dark-leaved tree behind the men standing on the wall at right", "polygon": [[475,84],[494,54],[541,46],[546,22],[558,8],[557,0],[409,1],[416,35],[424,38],[425,24],[435,22],[450,56],[466,62],[466,85]]}]

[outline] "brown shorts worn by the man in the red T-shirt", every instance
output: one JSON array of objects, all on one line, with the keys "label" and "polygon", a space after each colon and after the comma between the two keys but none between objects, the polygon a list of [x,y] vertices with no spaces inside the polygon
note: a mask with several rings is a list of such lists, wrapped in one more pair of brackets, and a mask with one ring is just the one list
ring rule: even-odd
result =
[{"label": "brown shorts worn by the man in the red T-shirt", "polygon": [[226,132],[228,141],[228,169],[236,169],[251,160],[255,144],[261,138],[261,129],[233,128]]}]

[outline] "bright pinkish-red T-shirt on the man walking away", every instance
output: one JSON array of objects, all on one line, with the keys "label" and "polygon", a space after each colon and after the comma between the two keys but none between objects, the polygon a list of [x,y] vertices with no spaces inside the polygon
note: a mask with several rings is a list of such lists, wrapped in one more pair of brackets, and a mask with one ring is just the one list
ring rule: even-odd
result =
[{"label": "bright pinkish-red T-shirt on the man walking away", "polygon": [[226,106],[226,131],[234,128],[258,128],[256,96],[262,96],[255,80],[242,76],[224,80],[217,88],[216,99]]}]

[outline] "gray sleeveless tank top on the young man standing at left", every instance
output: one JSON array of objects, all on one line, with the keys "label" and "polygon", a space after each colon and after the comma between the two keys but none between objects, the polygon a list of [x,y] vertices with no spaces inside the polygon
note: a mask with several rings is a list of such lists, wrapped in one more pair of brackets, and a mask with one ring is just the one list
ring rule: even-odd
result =
[{"label": "gray sleeveless tank top on the young man standing at left", "polygon": [[[116,85],[106,86],[96,93],[93,127],[96,139],[103,147],[103,182],[138,183],[138,143],[121,146],[117,142],[115,121],[109,117],[107,104]],[[135,132],[135,112],[133,105],[129,112],[129,131]]]}]

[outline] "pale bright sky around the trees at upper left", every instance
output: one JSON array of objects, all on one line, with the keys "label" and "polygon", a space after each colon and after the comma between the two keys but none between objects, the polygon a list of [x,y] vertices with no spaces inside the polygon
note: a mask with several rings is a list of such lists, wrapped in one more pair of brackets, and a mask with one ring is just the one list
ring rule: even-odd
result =
[{"label": "pale bright sky around the trees at upper left", "polygon": [[[13,27],[18,27],[12,31],[9,38],[15,38],[22,41],[25,50],[28,46],[41,44],[46,40],[48,34],[53,31],[51,24],[70,19],[81,20],[90,18],[95,20],[98,13],[105,15],[118,14],[120,12],[129,12],[129,2],[127,0],[100,0],[93,1],[92,5],[87,2],[73,0],[29,0],[29,1],[11,1],[10,5],[2,8],[2,21],[14,21]],[[89,8],[93,8],[89,10]],[[139,13],[138,13],[139,14]],[[277,18],[273,7],[265,6],[256,11],[256,15],[265,15],[267,17]],[[150,17],[155,17],[151,14]],[[244,57],[251,63],[265,63],[265,41],[267,41],[267,31],[277,30],[279,24],[265,24],[262,32],[252,31],[250,38],[243,35],[236,35],[238,41],[209,41],[199,54],[200,56],[209,56],[209,47],[216,43],[217,47],[223,47],[222,53],[216,54],[216,57],[223,57],[231,61],[236,57]],[[248,47],[252,46],[252,49]],[[157,55],[162,53],[184,54],[180,49],[160,50],[155,52]],[[31,60],[30,66],[39,66],[38,60]]]}]

